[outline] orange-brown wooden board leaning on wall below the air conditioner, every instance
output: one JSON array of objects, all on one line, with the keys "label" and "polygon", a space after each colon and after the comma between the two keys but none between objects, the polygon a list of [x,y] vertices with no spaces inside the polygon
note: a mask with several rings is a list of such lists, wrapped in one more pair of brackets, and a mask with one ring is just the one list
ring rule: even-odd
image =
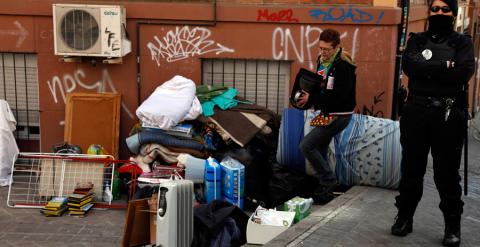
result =
[{"label": "orange-brown wooden board leaning on wall below the air conditioner", "polygon": [[83,153],[102,145],[118,158],[121,96],[117,93],[70,93],[65,107],[65,141]]}]

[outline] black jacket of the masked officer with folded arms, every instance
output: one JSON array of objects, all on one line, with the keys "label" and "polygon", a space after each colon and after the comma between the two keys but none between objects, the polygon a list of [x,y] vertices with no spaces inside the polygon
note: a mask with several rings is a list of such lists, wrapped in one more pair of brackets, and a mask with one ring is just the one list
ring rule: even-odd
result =
[{"label": "black jacket of the masked officer with folded arms", "polygon": [[[451,58],[436,58],[427,60],[422,55],[428,41],[443,43],[453,49]],[[409,91],[412,94],[450,97],[458,96],[464,90],[475,69],[475,57],[471,38],[457,32],[435,40],[428,32],[411,33],[402,58],[403,72],[409,79]],[[447,68],[447,60],[454,61],[453,68]]]}]

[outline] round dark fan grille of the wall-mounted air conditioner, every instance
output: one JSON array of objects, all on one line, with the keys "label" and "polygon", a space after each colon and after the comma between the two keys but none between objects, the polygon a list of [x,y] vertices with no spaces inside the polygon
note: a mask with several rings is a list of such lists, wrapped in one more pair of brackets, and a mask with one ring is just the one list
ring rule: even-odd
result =
[{"label": "round dark fan grille of the wall-mounted air conditioner", "polygon": [[61,20],[62,39],[70,48],[86,50],[99,38],[99,24],[87,11],[68,11]]}]

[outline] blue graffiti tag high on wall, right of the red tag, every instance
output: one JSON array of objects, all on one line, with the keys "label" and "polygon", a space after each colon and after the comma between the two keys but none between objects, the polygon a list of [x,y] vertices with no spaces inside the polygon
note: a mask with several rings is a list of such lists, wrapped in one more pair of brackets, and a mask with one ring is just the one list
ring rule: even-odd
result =
[{"label": "blue graffiti tag high on wall, right of the red tag", "polygon": [[348,7],[331,7],[329,9],[313,9],[309,11],[310,16],[319,21],[345,22],[354,23],[373,22],[379,23],[384,12],[379,12],[378,16],[359,8]]}]

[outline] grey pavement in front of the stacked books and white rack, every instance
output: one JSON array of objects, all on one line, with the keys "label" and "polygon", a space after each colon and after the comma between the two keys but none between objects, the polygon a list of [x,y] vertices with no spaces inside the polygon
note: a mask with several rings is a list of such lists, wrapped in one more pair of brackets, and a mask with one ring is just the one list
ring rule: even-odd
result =
[{"label": "grey pavement in front of the stacked books and white rack", "polygon": [[94,209],[85,218],[45,217],[40,209],[7,207],[0,187],[0,246],[121,246],[125,209]]}]

